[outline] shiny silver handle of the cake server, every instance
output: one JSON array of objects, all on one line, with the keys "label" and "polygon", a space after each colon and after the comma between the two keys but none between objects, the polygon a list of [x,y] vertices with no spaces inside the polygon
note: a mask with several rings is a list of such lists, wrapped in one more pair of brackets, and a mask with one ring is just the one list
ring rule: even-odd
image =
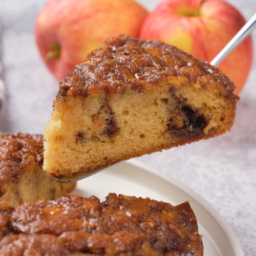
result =
[{"label": "shiny silver handle of the cake server", "polygon": [[228,44],[219,52],[219,54],[210,62],[212,66],[218,66],[221,61],[242,42],[256,27],[256,12],[248,22],[238,31],[238,33],[228,42]]}]

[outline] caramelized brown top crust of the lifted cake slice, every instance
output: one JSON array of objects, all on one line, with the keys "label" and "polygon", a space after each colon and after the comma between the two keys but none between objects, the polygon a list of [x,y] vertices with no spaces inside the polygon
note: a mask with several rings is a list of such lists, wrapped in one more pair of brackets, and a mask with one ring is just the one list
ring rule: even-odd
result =
[{"label": "caramelized brown top crust of the lifted cake slice", "polygon": [[143,91],[168,81],[211,88],[237,98],[233,82],[209,63],[160,41],[120,35],[106,39],[60,82],[57,99],[86,96],[98,90],[111,93],[127,87]]}]

